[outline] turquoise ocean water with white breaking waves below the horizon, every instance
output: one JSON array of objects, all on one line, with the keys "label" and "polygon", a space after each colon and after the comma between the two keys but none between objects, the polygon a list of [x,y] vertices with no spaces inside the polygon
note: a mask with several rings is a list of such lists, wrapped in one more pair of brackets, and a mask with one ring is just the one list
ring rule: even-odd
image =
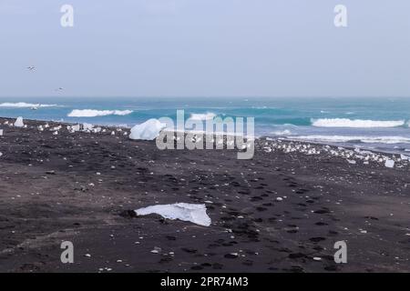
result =
[{"label": "turquoise ocean water with white breaking waves below the horizon", "polygon": [[255,135],[410,152],[410,98],[351,97],[46,97],[0,98],[0,116],[95,125],[136,125],[149,118],[251,116]]}]

